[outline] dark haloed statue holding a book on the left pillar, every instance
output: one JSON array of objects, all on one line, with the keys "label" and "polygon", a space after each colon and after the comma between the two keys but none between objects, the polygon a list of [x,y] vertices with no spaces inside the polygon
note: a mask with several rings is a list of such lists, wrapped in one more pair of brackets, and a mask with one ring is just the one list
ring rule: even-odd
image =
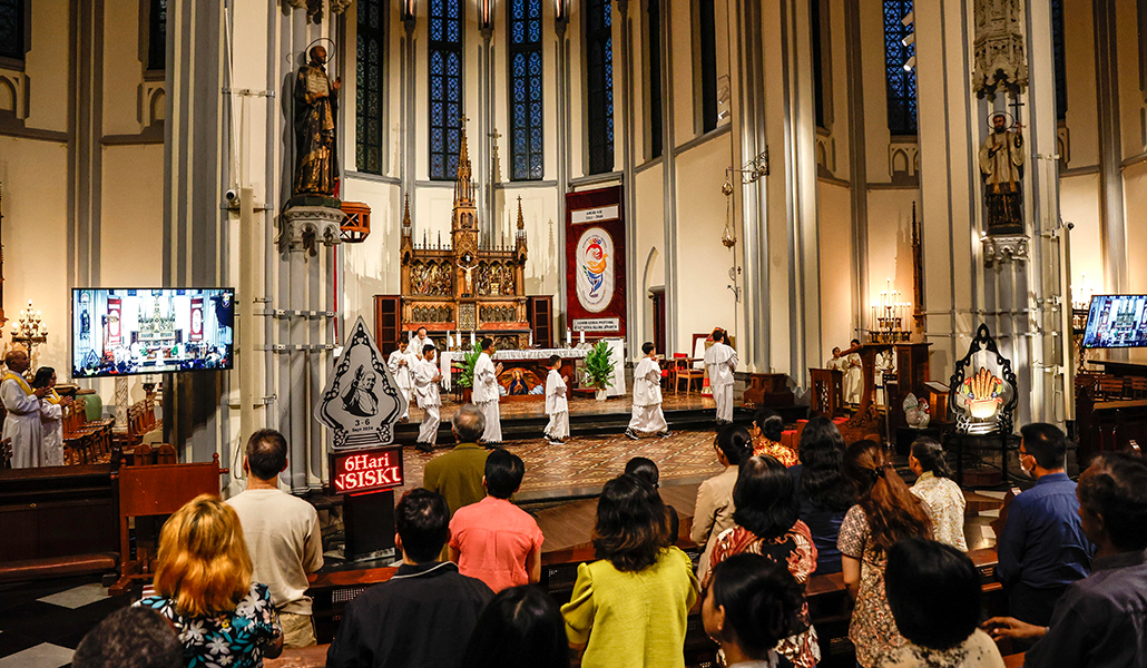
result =
[{"label": "dark haloed statue holding a book on the left pillar", "polygon": [[338,196],[335,108],[343,80],[327,77],[327,49],[311,48],[310,62],[295,77],[294,197]]}]

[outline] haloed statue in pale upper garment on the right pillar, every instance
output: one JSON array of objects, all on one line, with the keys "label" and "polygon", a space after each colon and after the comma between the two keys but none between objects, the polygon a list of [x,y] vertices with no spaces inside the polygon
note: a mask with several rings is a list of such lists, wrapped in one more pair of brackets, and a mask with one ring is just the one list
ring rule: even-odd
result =
[{"label": "haloed statue in pale upper garment on the right pillar", "polygon": [[1023,233],[1023,134],[1019,124],[1008,127],[1007,113],[991,116],[992,132],[980,147],[980,172],[984,176],[988,234]]}]

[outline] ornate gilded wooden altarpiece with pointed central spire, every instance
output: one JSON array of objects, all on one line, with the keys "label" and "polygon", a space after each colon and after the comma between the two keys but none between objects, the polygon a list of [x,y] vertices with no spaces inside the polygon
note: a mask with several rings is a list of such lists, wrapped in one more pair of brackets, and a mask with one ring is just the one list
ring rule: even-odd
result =
[{"label": "ornate gilded wooden altarpiece with pointed central spire", "polygon": [[423,235],[415,244],[408,199],[403,207],[403,329],[473,331],[493,338],[498,348],[529,347],[525,259],[521,197],[513,245],[479,238],[463,121],[450,243],[439,237],[431,244]]}]

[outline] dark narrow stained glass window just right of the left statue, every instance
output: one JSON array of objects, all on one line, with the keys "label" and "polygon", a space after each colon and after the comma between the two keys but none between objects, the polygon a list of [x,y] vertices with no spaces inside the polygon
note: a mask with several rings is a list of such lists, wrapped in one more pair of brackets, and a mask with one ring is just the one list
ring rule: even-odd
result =
[{"label": "dark narrow stained glass window just right of the left statue", "polygon": [[356,57],[354,164],[359,172],[382,173],[383,0],[358,0]]}]

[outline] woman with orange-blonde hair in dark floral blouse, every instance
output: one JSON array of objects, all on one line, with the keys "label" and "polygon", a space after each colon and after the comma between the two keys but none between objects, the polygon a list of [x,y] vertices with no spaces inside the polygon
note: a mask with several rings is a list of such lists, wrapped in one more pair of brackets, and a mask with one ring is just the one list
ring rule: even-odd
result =
[{"label": "woman with orange-blonde hair in dark floral blouse", "polygon": [[187,668],[258,668],[282,652],[271,592],[251,582],[239,516],[216,496],[197,496],[163,525],[155,592],[135,605],[171,620]]}]

